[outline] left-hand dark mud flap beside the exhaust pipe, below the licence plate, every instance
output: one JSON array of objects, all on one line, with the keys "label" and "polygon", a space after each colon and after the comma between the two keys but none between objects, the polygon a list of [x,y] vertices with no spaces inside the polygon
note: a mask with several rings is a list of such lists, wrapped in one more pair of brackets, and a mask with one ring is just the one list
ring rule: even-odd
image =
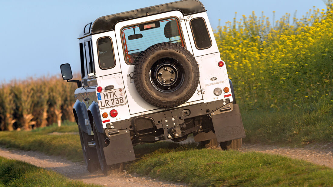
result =
[{"label": "left-hand dark mud flap beside the exhaust pipe, below the licence plate", "polygon": [[107,165],[135,160],[130,131],[106,129],[110,144],[103,148]]}]

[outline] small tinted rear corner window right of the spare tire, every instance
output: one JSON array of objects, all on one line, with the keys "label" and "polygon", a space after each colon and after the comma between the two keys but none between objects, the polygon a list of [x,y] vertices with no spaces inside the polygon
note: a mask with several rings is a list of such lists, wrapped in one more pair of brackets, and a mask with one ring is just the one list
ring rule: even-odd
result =
[{"label": "small tinted rear corner window right of the spare tire", "polygon": [[211,40],[203,18],[195,18],[190,22],[195,47],[197,49],[206,49],[211,46]]}]

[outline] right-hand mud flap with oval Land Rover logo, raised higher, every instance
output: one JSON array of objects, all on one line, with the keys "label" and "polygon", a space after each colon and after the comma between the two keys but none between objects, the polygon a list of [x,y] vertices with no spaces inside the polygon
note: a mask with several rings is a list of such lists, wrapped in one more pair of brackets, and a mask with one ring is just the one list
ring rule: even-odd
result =
[{"label": "right-hand mud flap with oval Land Rover logo, raised higher", "polygon": [[218,142],[245,138],[238,104],[228,103],[210,116]]}]

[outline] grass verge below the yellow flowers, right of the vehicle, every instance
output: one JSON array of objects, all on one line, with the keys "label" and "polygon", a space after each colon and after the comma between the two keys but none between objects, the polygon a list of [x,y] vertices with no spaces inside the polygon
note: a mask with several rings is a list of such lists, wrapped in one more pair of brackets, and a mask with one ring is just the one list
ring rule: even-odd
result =
[{"label": "grass verge below the yellow flowers, right of the vehicle", "polygon": [[241,111],[245,142],[302,145],[333,140],[333,103]]}]

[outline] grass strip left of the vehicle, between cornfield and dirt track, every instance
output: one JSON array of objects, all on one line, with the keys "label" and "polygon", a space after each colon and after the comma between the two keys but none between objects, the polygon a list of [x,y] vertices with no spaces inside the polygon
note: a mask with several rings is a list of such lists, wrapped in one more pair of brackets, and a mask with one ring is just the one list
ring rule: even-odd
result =
[{"label": "grass strip left of the vehicle, between cornfield and dirt track", "polygon": [[61,127],[52,125],[33,131],[4,131],[0,132],[0,144],[10,148],[35,150],[50,155],[60,155],[72,161],[83,161],[78,134],[49,134],[53,132],[78,132],[78,127],[75,123],[67,122]]}]

